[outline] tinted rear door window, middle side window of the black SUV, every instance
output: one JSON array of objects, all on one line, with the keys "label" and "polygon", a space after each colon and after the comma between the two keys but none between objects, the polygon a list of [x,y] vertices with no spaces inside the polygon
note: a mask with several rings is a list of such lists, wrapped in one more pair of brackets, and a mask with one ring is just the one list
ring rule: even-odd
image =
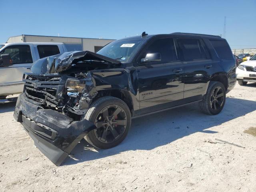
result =
[{"label": "tinted rear door window, middle side window of the black SUV", "polygon": [[178,44],[180,48],[182,48],[184,59],[186,61],[207,58],[199,39],[179,38]]}]

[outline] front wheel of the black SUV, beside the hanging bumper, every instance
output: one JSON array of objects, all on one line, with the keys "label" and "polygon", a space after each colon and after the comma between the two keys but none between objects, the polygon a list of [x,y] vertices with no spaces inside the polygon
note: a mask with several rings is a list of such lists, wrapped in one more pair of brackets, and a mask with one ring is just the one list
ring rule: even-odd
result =
[{"label": "front wheel of the black SUV, beside the hanging bumper", "polygon": [[131,113],[127,104],[115,97],[106,96],[94,102],[84,116],[97,129],[84,137],[92,146],[108,149],[120,144],[131,126]]}]

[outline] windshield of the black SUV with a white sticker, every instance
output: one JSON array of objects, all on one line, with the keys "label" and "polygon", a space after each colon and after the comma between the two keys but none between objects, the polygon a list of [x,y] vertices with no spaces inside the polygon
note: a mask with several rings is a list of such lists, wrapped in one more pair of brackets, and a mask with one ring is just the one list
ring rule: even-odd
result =
[{"label": "windshield of the black SUV with a white sticker", "polygon": [[126,39],[113,41],[97,53],[120,62],[127,62],[141,47],[143,39]]}]

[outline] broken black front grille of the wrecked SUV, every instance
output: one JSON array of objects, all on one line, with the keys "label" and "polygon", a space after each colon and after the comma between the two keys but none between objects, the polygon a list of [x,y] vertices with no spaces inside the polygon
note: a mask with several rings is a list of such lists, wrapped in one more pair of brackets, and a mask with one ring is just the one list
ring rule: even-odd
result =
[{"label": "broken black front grille of the wrecked SUV", "polygon": [[24,75],[26,96],[48,106],[56,107],[62,100],[65,82],[61,76]]}]

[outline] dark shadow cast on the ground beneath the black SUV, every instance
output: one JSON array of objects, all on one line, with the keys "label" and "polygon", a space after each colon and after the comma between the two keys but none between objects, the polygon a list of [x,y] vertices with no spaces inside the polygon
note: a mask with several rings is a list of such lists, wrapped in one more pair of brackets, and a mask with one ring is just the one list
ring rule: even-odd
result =
[{"label": "dark shadow cast on the ground beneath the black SUV", "polygon": [[63,164],[100,159],[129,150],[151,150],[196,132],[215,134],[218,132],[207,129],[244,116],[254,110],[256,110],[256,101],[226,98],[224,109],[216,116],[203,114],[198,104],[190,104],[136,118],[132,120],[128,136],[118,146],[108,150],[99,150],[94,149],[83,139],[72,151],[74,155],[66,158]]}]

